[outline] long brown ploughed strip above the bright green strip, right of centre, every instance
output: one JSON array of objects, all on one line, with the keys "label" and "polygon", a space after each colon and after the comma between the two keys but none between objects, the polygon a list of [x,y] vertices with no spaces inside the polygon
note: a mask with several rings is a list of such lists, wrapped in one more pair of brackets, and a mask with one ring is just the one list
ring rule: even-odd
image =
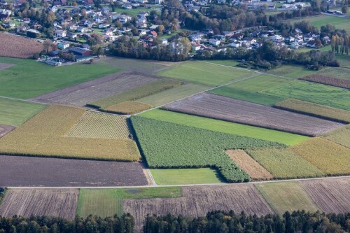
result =
[{"label": "long brown ploughed strip above the bright green strip, right of centre", "polygon": [[168,104],[163,108],[307,136],[316,136],[343,126],[338,122],[209,93],[197,94],[194,97]]}]

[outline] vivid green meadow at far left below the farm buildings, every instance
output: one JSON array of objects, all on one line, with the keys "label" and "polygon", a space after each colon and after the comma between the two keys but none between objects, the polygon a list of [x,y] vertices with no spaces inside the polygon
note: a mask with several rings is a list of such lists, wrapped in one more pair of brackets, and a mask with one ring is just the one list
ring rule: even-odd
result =
[{"label": "vivid green meadow at far left below the farm buildings", "polygon": [[15,64],[0,71],[0,96],[29,99],[38,95],[100,78],[121,69],[104,64],[48,66],[29,59],[0,57],[0,62]]}]

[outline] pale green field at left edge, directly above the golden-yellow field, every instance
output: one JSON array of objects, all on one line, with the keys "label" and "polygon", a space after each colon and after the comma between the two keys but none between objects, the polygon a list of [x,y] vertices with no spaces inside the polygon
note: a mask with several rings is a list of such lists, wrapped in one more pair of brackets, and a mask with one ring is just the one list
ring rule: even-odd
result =
[{"label": "pale green field at left edge, directly above the golden-yellow field", "polygon": [[0,125],[18,126],[47,105],[0,97]]}]

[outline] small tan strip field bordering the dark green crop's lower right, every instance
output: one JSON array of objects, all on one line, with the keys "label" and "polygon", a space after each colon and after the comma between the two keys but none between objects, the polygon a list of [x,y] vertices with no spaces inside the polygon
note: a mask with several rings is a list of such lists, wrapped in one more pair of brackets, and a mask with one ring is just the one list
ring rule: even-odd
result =
[{"label": "small tan strip field bordering the dark green crop's lower right", "polygon": [[238,167],[246,171],[253,181],[267,181],[274,178],[269,171],[253,160],[244,150],[226,150],[225,153],[237,163]]}]

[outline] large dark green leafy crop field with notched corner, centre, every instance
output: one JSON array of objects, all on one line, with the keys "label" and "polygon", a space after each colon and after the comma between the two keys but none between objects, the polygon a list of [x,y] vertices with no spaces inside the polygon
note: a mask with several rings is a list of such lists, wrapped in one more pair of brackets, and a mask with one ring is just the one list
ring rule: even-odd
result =
[{"label": "large dark green leafy crop field with notched corner, centre", "polygon": [[132,117],[132,125],[150,168],[215,167],[228,182],[248,181],[249,176],[225,149],[283,146],[142,117]]}]

